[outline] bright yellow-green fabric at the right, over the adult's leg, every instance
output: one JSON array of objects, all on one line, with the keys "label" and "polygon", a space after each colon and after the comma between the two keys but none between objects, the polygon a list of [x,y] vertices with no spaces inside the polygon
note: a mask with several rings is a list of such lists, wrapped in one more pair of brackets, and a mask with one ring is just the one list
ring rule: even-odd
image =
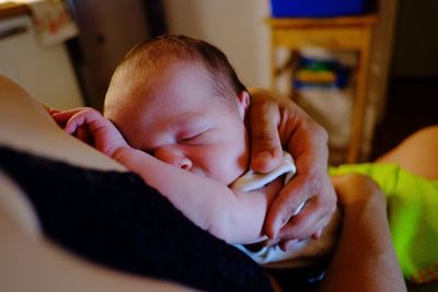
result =
[{"label": "bright yellow-green fabric at the right, over the adult's leg", "polygon": [[364,174],[385,192],[392,240],[405,279],[438,280],[438,180],[428,180],[395,164],[346,164],[331,175]]}]

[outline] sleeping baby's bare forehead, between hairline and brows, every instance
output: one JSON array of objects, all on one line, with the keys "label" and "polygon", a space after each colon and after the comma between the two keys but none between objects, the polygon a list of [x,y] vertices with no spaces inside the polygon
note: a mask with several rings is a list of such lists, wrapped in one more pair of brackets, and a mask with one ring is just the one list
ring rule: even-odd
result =
[{"label": "sleeping baby's bare forehead, between hairline and brows", "polygon": [[126,95],[119,96],[118,109],[134,116],[153,114],[157,109],[172,114],[206,101],[214,104],[214,98],[235,106],[238,100],[231,87],[215,81],[205,68],[185,62],[168,63],[136,75],[125,71],[122,79],[125,81],[119,85],[126,87]]}]

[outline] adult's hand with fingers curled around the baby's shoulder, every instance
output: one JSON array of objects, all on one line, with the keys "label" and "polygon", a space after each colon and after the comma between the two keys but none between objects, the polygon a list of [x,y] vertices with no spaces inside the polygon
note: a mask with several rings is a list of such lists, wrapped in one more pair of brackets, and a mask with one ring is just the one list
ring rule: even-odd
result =
[{"label": "adult's hand with fingers curled around the baby's shoulder", "polygon": [[318,238],[336,208],[327,175],[326,131],[295,103],[264,90],[252,90],[250,124],[254,171],[266,173],[277,166],[283,149],[291,153],[297,166],[296,176],[269,207],[266,234],[284,249],[295,240]]}]

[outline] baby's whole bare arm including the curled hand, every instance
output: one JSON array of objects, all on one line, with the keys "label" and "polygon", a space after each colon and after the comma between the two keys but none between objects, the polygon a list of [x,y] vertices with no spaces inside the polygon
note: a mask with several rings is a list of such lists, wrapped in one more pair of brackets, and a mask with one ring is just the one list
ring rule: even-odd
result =
[{"label": "baby's whole bare arm including the curled hand", "polygon": [[53,117],[67,132],[139,174],[199,227],[231,244],[262,240],[266,210],[280,184],[260,191],[232,191],[221,183],[130,148],[116,127],[95,109],[77,108],[53,113]]}]

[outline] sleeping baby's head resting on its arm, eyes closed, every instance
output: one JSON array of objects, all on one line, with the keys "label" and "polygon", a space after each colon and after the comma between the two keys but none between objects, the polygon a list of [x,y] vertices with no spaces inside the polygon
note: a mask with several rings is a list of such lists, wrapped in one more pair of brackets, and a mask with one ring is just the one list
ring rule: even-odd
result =
[{"label": "sleeping baby's head resting on its arm, eyes closed", "polygon": [[104,114],[131,147],[228,185],[249,165],[247,105],[223,52],[203,40],[162,36],[126,55]]}]

